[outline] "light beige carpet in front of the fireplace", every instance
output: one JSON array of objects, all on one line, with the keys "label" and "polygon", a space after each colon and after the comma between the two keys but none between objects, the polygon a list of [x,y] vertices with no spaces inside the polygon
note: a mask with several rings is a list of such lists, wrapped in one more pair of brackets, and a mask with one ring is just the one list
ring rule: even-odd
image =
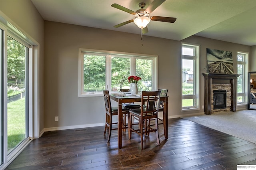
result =
[{"label": "light beige carpet in front of the fireplace", "polygon": [[254,110],[182,118],[256,144],[256,111]]}]

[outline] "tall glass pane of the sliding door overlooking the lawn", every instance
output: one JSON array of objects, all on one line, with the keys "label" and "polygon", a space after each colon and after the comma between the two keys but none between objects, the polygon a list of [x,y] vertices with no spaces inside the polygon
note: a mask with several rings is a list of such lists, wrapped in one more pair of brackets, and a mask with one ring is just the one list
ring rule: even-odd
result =
[{"label": "tall glass pane of the sliding door overlooking the lawn", "polygon": [[7,39],[7,135],[8,154],[28,137],[28,47]]}]

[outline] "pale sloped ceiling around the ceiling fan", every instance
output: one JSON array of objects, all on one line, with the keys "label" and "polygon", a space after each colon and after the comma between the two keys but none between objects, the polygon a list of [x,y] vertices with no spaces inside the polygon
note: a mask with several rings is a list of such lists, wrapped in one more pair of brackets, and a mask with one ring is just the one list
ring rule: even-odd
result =
[{"label": "pale sloped ceiling around the ceiling fan", "polygon": [[[153,0],[31,0],[47,21],[140,34],[134,23],[113,26],[134,16],[111,7],[119,4],[132,11],[140,2]],[[145,7],[145,8],[146,8]],[[150,16],[177,18],[174,23],[150,21],[148,33],[172,40],[196,35],[216,40],[256,45],[256,0],[166,0]]]}]

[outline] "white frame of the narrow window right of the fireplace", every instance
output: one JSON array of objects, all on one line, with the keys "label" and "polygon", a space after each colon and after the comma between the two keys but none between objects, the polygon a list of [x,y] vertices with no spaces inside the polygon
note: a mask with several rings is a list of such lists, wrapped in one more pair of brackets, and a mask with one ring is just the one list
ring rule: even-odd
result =
[{"label": "white frame of the narrow window right of the fireplace", "polygon": [[[243,61],[238,61],[238,55],[243,55]],[[247,98],[248,98],[248,57],[249,53],[248,52],[242,52],[242,51],[237,51],[236,53],[236,71],[238,73],[238,64],[243,65],[243,80],[242,80],[242,93],[238,93],[238,87],[237,87],[237,97],[242,96],[244,98],[243,102],[238,102],[236,101],[236,105],[247,105]]]}]

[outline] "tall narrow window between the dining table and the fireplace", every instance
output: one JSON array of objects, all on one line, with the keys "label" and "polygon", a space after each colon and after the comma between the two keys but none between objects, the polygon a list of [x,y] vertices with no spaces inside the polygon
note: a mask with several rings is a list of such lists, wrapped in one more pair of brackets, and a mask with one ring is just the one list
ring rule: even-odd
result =
[{"label": "tall narrow window between the dining table and the fireplace", "polygon": [[199,46],[182,44],[182,110],[199,108]]}]

